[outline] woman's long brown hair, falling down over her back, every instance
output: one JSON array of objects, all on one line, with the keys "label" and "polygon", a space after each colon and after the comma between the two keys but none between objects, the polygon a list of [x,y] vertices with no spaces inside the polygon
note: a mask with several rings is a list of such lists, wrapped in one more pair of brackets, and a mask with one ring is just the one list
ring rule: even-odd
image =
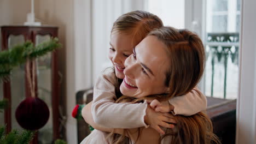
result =
[{"label": "woman's long brown hair, falling down over her back", "polygon": [[[161,27],[150,32],[167,46],[166,52],[169,57],[170,68],[166,71],[166,87],[169,88],[166,94],[151,95],[158,100],[167,100],[179,97],[190,92],[200,81],[205,68],[205,50],[201,39],[193,32],[186,29],[175,29],[172,27]],[[145,99],[145,98],[144,98]],[[132,101],[138,103],[142,99],[133,100],[121,97],[117,101]],[[220,143],[218,137],[213,134],[212,122],[208,116],[199,112],[193,116],[174,116],[176,127],[167,129],[166,135],[161,136],[171,143]],[[139,132],[138,132],[139,133]],[[114,137],[113,143],[124,143],[125,134]],[[138,139],[137,139],[138,140]]]}]

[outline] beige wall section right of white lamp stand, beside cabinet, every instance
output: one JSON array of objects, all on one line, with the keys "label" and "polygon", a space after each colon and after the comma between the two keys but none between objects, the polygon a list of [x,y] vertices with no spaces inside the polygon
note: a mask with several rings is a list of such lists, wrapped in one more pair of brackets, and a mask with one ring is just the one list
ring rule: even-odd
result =
[{"label": "beige wall section right of white lamp stand, beside cabinet", "polygon": [[66,139],[77,142],[76,121],[71,117],[75,105],[74,79],[74,5],[69,0],[35,1],[36,20],[45,25],[59,27],[59,39],[63,47],[59,50],[59,69],[63,75],[61,102],[66,106]]}]

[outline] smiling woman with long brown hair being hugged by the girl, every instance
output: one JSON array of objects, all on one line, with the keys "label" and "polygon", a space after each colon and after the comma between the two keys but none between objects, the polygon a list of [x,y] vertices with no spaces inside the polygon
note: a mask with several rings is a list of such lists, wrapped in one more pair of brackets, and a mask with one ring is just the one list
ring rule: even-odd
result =
[{"label": "smiling woman with long brown hair being hugged by the girl", "polygon": [[[120,86],[121,93],[126,97],[121,97],[118,101],[125,103],[129,101],[138,103],[147,99],[164,101],[177,95],[187,94],[201,79],[204,65],[205,53],[202,41],[196,34],[171,27],[155,29],[126,59],[125,78]],[[87,118],[89,116],[85,116],[86,122],[93,125],[93,122],[88,121]],[[129,137],[130,143],[219,143],[212,133],[210,119],[202,112],[193,116],[173,118],[177,122],[176,127],[166,129],[166,135],[160,135],[150,127],[100,130],[121,135],[112,133],[108,136],[109,143],[123,143],[126,140],[125,136]],[[100,131],[95,133],[93,131],[86,139],[97,135],[101,135]],[[105,134],[101,136],[106,137]]]}]

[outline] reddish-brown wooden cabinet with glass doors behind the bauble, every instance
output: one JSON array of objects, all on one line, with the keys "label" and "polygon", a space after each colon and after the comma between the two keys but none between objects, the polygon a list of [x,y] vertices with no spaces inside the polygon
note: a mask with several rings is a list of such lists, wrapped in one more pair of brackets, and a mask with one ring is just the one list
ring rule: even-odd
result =
[{"label": "reddish-brown wooden cabinet with glass doors behind the bauble", "polygon": [[[38,45],[51,37],[57,37],[55,26],[2,26],[2,50],[11,49],[16,44],[31,40]],[[36,59],[36,97],[44,100],[50,110],[46,125],[38,130],[32,143],[52,143],[60,137],[59,80],[57,78],[57,52]],[[15,119],[15,110],[26,97],[31,97],[25,64],[13,69],[10,81],[3,83],[4,98],[9,100],[9,107],[4,111],[4,123],[7,131],[22,129]]]}]

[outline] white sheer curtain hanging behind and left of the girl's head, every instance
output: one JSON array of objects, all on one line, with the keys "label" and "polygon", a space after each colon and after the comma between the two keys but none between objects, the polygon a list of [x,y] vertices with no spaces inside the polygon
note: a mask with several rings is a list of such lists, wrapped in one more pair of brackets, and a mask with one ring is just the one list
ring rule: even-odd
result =
[{"label": "white sheer curtain hanging behind and left of the girl's head", "polygon": [[143,9],[143,0],[94,0],[92,2],[92,83],[104,68],[112,65],[107,58],[107,53],[114,21],[124,13]]}]

